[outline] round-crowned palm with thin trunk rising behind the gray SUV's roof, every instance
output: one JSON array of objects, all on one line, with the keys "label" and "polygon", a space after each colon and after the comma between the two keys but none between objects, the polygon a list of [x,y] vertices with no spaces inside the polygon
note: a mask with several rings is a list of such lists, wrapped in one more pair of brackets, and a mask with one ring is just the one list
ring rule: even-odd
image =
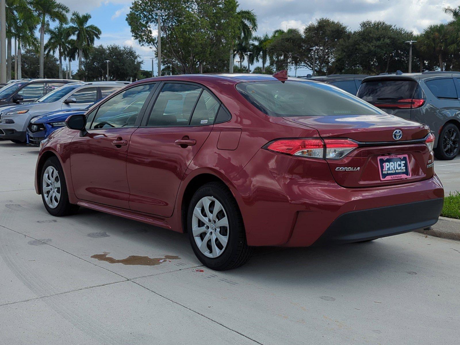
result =
[{"label": "round-crowned palm with thin trunk rising behind the gray SUV's roof", "polygon": [[441,71],[444,70],[444,57],[449,47],[446,27],[446,24],[430,25],[423,31],[420,36],[420,42],[418,42],[421,52],[436,55]]}]

